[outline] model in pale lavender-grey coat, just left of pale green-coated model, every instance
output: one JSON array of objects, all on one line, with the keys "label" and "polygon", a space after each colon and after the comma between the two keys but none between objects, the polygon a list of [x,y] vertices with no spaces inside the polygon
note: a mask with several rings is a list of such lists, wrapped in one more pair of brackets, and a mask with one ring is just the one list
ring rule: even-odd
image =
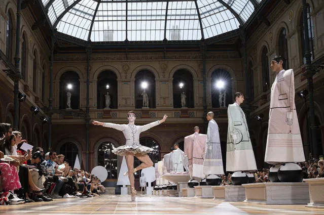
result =
[{"label": "model in pale lavender-grey coat, just left of pale green-coated model", "polygon": [[207,185],[220,185],[222,179],[217,175],[224,175],[223,159],[219,127],[213,119],[214,113],[207,113],[208,128],[206,140],[206,152],[203,164],[203,174],[206,175]]}]

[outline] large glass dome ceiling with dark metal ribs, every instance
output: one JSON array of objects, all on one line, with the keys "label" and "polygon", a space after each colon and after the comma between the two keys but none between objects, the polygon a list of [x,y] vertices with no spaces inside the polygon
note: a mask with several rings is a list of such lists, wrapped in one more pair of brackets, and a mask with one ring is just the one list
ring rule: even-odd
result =
[{"label": "large glass dome ceiling with dark metal ribs", "polygon": [[59,32],[91,41],[200,40],[244,25],[261,0],[42,0]]}]

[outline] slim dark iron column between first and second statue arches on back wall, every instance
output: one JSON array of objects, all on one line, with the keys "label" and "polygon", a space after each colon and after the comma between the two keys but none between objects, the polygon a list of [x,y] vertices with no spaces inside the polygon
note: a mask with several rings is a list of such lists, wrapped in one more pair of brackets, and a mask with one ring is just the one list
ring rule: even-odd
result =
[{"label": "slim dark iron column between first and second statue arches on back wall", "polygon": [[86,48],[87,52],[87,104],[86,104],[86,170],[89,170],[89,92],[90,92],[90,56],[91,56],[91,46]]}]

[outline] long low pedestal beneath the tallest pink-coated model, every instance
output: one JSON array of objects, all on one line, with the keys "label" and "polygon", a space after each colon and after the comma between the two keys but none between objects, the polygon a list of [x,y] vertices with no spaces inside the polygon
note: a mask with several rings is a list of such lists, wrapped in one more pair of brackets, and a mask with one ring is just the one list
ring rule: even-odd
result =
[{"label": "long low pedestal beneath the tallest pink-coated model", "polygon": [[308,204],[308,183],[255,183],[243,184],[246,202],[262,202],[265,204]]}]

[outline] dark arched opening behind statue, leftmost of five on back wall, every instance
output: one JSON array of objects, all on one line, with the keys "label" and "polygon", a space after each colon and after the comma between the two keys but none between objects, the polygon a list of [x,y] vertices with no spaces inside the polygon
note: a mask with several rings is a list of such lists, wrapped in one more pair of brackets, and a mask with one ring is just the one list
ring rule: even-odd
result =
[{"label": "dark arched opening behind statue, leftmost of five on back wall", "polygon": [[[80,77],[74,71],[64,72],[60,77],[60,109],[67,108],[67,92],[70,92],[71,109],[79,109],[80,98]],[[68,89],[68,84],[71,84],[71,89]]]}]

